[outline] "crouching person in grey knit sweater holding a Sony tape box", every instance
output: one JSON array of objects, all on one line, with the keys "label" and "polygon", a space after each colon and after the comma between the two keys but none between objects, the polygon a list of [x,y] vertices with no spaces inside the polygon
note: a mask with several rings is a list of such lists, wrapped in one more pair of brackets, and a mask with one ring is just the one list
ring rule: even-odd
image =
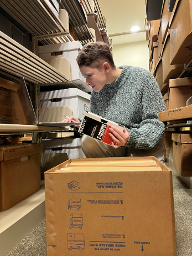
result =
[{"label": "crouching person in grey knit sweater holding a Sony tape box", "polygon": [[[90,112],[126,127],[123,132],[110,128],[111,145],[83,135],[85,156],[154,156],[164,162],[165,124],[158,120],[158,113],[166,108],[153,75],[139,67],[116,68],[110,48],[103,42],[85,44],[77,64],[92,88]],[[63,122],[71,120],[81,121],[71,116]]]}]

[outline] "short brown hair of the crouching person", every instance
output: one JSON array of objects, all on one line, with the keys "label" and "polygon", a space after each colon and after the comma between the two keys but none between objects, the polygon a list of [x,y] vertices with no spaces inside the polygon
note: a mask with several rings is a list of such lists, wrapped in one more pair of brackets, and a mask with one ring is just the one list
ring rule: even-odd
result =
[{"label": "short brown hair of the crouching person", "polygon": [[100,69],[104,62],[108,62],[112,68],[115,68],[110,47],[100,41],[85,44],[76,61],[79,67],[85,65]]}]

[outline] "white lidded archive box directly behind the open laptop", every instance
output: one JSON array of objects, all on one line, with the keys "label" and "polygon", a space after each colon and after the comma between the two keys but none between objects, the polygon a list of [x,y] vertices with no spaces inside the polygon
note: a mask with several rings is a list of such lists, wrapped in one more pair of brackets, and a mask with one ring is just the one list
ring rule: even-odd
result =
[{"label": "white lidded archive box directly behind the open laptop", "polygon": [[83,118],[85,111],[90,111],[90,94],[77,88],[42,92],[40,102],[41,108],[68,106],[76,118]]}]

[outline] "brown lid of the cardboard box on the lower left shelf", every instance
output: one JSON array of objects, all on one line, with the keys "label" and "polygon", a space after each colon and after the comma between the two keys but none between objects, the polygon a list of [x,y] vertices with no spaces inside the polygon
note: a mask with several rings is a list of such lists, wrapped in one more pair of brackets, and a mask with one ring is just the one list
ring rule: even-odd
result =
[{"label": "brown lid of the cardboard box on the lower left shelf", "polygon": [[41,143],[32,144],[14,144],[2,145],[0,147],[0,161],[11,160],[15,158],[25,157],[27,155],[38,154],[42,152]]}]

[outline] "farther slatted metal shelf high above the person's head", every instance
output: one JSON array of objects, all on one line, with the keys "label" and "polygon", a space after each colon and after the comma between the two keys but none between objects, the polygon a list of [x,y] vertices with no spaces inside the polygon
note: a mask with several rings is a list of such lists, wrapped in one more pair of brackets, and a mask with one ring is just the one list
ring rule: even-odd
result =
[{"label": "farther slatted metal shelf high above the person's head", "polygon": [[69,24],[74,28],[77,37],[81,44],[94,42],[94,38],[87,27],[84,17],[82,16],[76,1],[74,0],[61,0],[60,8],[65,9],[69,15]]}]

